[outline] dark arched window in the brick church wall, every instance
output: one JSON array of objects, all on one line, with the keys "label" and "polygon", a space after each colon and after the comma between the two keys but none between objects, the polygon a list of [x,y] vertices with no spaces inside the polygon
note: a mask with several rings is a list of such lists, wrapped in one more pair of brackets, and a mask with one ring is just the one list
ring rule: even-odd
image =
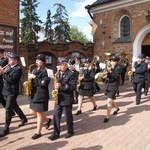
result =
[{"label": "dark arched window in the brick church wall", "polygon": [[128,16],[122,17],[120,20],[120,37],[130,36],[130,18]]}]

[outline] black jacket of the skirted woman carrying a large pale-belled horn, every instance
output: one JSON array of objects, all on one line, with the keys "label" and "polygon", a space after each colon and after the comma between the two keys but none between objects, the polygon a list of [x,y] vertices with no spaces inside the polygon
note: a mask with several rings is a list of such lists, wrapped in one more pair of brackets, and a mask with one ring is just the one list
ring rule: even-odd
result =
[{"label": "black jacket of the skirted woman carrying a large pale-belled horn", "polygon": [[111,73],[107,74],[107,79],[105,83],[105,89],[108,91],[117,91],[118,83],[121,74],[121,67],[119,65],[112,69]]}]

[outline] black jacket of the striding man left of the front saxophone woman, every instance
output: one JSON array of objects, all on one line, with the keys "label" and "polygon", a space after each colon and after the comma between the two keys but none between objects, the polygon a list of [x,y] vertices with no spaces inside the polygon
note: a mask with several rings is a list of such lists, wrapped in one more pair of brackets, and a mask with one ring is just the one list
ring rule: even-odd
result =
[{"label": "black jacket of the striding man left of the front saxophone woman", "polygon": [[3,74],[3,90],[4,96],[17,96],[19,95],[19,82],[22,76],[22,69],[19,65],[9,68],[5,74]]}]

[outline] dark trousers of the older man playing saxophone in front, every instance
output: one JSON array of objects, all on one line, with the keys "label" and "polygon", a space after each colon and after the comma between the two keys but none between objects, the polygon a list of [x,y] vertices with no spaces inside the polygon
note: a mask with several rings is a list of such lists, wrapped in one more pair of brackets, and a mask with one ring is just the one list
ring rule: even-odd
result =
[{"label": "dark trousers of the older man playing saxophone in front", "polygon": [[54,134],[57,136],[60,135],[60,120],[63,112],[65,114],[66,123],[67,123],[67,130],[68,130],[67,133],[74,132],[72,105],[69,106],[55,105],[53,120],[54,120]]}]

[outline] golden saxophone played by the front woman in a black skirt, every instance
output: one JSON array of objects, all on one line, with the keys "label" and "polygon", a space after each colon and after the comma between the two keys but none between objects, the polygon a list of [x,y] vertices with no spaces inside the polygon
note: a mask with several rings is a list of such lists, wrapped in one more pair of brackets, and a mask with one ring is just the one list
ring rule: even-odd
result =
[{"label": "golden saxophone played by the front woman in a black skirt", "polygon": [[[28,69],[28,74],[31,73],[31,67],[34,66],[35,64],[31,64],[29,66],[29,69]],[[28,79],[28,81],[25,81],[23,83],[23,87],[24,87],[24,93],[26,96],[30,96],[31,94],[31,80]]]}]

